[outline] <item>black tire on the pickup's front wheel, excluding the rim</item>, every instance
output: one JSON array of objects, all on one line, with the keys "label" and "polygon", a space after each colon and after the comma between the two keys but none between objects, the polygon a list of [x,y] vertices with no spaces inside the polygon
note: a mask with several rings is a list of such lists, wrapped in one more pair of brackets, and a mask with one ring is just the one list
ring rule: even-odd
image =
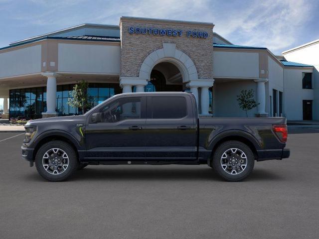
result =
[{"label": "black tire on the pickup's front wheel, excluding the rim", "polygon": [[[68,157],[68,166],[60,174],[49,173],[44,168],[44,166],[42,164],[42,160],[43,160],[43,157],[45,156],[46,152],[50,149],[53,149],[53,148],[58,148],[58,149],[63,150],[66,153],[66,156]],[[50,153],[48,153],[48,154],[50,154]],[[59,156],[59,154],[61,154],[60,151],[57,153],[56,156]],[[50,155],[48,155],[48,156],[50,156]],[[51,160],[51,156],[50,156],[50,160]],[[63,158],[61,158],[61,160],[63,160]],[[79,165],[79,162],[77,159],[77,155],[76,155],[74,149],[72,148],[72,146],[70,144],[68,144],[64,141],[60,141],[60,140],[54,140],[54,141],[50,141],[50,142],[43,144],[39,148],[39,150],[37,151],[37,153],[35,155],[36,170],[44,179],[51,181],[51,182],[60,182],[60,181],[64,181],[64,180],[68,179],[77,170],[78,165]],[[51,170],[52,167],[50,167],[49,170]],[[61,169],[61,171],[62,171],[62,169]]]}]

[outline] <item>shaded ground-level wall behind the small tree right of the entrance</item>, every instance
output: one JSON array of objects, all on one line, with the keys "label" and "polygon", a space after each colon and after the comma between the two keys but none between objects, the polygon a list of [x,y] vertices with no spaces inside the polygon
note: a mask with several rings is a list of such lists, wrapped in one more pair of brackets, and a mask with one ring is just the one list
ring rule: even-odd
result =
[{"label": "shaded ground-level wall behind the small tree right of the entrance", "polygon": [[[214,117],[246,117],[245,112],[238,106],[237,96],[242,90],[254,90],[257,102],[257,84],[252,80],[229,81],[214,83],[213,87]],[[255,117],[257,108],[248,112],[248,117]]]}]

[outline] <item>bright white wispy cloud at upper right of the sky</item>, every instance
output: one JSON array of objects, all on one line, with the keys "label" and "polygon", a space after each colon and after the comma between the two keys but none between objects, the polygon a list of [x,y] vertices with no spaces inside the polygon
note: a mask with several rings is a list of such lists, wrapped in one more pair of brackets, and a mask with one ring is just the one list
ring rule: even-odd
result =
[{"label": "bright white wispy cloud at upper right of the sky", "polygon": [[278,54],[296,44],[312,13],[313,4],[306,0],[254,1],[226,21],[218,19],[215,30],[235,44],[265,46]]}]

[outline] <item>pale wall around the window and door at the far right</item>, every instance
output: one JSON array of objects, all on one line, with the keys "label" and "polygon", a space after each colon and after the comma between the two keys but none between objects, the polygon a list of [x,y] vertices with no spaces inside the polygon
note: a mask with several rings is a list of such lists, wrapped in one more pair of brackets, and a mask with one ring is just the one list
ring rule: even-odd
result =
[{"label": "pale wall around the window and door at the far right", "polygon": [[314,100],[314,90],[303,89],[303,72],[312,71],[285,68],[284,104],[288,120],[303,120],[303,100]]}]

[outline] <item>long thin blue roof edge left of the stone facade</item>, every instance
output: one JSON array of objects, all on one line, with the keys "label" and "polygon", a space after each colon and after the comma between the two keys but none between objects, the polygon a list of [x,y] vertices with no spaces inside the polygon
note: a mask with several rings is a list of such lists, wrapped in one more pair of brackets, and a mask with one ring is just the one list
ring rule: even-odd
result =
[{"label": "long thin blue roof edge left of the stone facade", "polygon": [[15,46],[20,46],[20,45],[36,42],[36,41],[41,41],[41,40],[45,40],[45,39],[121,42],[120,37],[114,37],[114,36],[110,36],[110,37],[109,36],[45,36],[45,37],[37,38],[37,39],[34,39],[34,40],[24,41],[24,42],[21,42],[21,43],[18,43],[18,44],[5,46],[5,47],[0,48],[0,50],[8,49],[8,48],[12,48],[12,47],[15,47]]}]

